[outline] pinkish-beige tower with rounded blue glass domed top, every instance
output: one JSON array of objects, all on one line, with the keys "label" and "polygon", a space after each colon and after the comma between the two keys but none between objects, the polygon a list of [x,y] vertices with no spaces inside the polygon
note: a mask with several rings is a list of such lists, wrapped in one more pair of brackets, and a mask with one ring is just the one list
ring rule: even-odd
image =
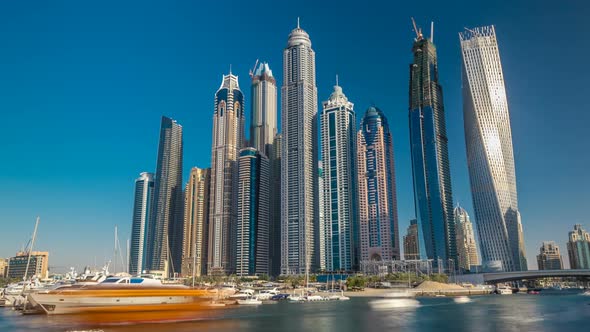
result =
[{"label": "pinkish-beige tower with rounded blue glass domed top", "polygon": [[400,259],[393,137],[377,107],[361,120],[357,172],[361,261]]}]

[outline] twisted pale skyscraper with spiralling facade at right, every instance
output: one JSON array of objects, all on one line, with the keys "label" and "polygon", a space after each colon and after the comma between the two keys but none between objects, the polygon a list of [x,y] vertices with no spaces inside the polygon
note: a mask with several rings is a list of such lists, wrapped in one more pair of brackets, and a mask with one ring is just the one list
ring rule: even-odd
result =
[{"label": "twisted pale skyscraper with spiralling facade at right", "polygon": [[482,265],[527,270],[510,115],[493,26],[459,33],[467,166]]}]

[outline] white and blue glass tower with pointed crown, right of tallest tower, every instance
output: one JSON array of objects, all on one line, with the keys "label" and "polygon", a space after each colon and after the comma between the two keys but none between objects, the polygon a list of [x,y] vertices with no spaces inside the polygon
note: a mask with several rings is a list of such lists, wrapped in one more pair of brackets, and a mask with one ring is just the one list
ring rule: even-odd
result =
[{"label": "white and blue glass tower with pointed crown, right of tallest tower", "polygon": [[[354,104],[334,86],[320,115],[324,195],[325,266],[328,271],[358,269],[356,116]],[[321,241],[320,241],[321,242]],[[320,263],[320,265],[322,265]]]}]

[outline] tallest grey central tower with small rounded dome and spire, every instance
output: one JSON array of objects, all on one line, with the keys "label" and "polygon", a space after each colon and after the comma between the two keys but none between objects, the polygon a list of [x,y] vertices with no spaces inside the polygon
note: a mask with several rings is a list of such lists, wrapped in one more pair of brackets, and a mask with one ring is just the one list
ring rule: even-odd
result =
[{"label": "tallest grey central tower with small rounded dome and spire", "polygon": [[314,270],[317,216],[315,52],[297,25],[283,51],[281,274]]}]

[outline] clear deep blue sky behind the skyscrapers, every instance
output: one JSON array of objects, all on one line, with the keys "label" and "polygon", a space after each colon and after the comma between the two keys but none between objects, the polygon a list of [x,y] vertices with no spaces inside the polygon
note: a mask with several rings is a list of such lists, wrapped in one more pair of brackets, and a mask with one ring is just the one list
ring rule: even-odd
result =
[{"label": "clear deep blue sky behind the skyscrapers", "polygon": [[316,51],[319,101],[338,74],[358,118],[371,103],[389,118],[403,235],[414,216],[407,117],[414,16],[425,30],[435,22],[453,194],[471,215],[457,33],[496,25],[529,267],[543,240],[557,241],[567,261],[567,232],[574,223],[590,228],[589,5],[319,3],[3,1],[0,257],[27,242],[40,215],[36,248],[50,251],[55,271],[110,259],[114,226],[122,239],[130,233],[134,179],[155,169],[161,115],[184,127],[185,179],[190,167],[208,167],[221,75],[232,64],[248,97],[248,70],[259,58],[282,82],[297,16]]}]

